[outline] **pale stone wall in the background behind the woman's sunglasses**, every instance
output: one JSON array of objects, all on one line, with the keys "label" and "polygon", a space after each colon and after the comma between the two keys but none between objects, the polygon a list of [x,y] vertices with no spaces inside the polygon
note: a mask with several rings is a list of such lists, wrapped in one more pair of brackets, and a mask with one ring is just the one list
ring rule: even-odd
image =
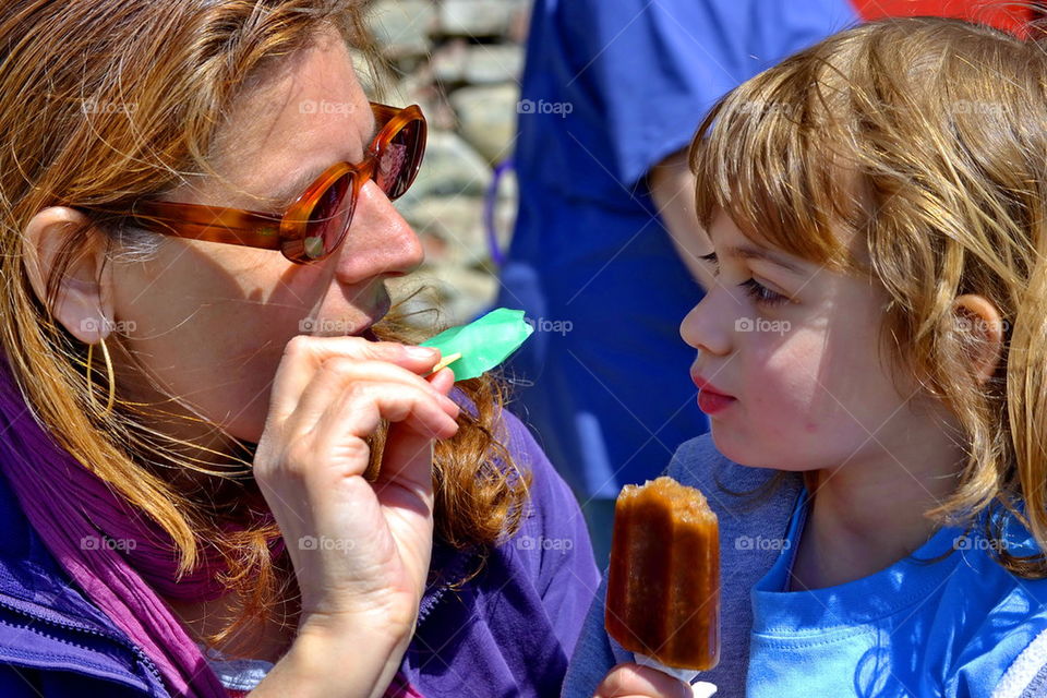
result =
[{"label": "pale stone wall in the background behind the woman's sunglasses", "polygon": [[[483,202],[494,169],[513,155],[529,12],[530,0],[370,3],[371,29],[395,73],[385,98],[418,104],[429,120],[422,170],[397,207],[426,251],[408,288],[420,279],[431,286],[444,313],[440,322],[467,322],[494,301]],[[512,170],[500,180],[496,202],[494,228],[504,250],[516,217]]]}]

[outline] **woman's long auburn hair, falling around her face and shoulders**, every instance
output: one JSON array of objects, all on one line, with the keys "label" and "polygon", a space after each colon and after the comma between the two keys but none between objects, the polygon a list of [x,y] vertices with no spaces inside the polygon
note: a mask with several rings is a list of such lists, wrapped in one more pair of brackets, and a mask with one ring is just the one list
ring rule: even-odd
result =
[{"label": "woman's long auburn hair, falling around her face and shoulders", "polygon": [[[224,434],[233,456],[174,438],[146,423],[170,419],[156,406],[119,399],[106,414],[108,385],[97,358],[85,376],[86,347],[56,323],[53,308],[69,264],[88,245],[120,250],[143,239],[118,217],[92,216],[71,229],[36,298],[24,263],[23,231],[47,206],[129,210],[143,196],[179,183],[184,171],[214,172],[216,147],[232,104],[265,82],[322,31],[336,29],[371,73],[383,64],[360,3],[345,0],[73,0],[17,1],[0,8],[0,245],[4,282],[0,341],[28,409],[84,468],[108,483],[170,537],[179,573],[200,563],[202,544],[228,563],[222,581],[244,613],[205,640],[217,645],[243,625],[270,617],[293,591],[286,552],[273,559],[275,525],[230,533],[262,503],[250,474],[255,444]],[[101,234],[99,234],[101,233]],[[405,340],[394,318],[374,327]],[[402,320],[402,318],[401,318]],[[111,337],[118,337],[117,334]],[[105,372],[101,372],[105,375]],[[100,385],[99,385],[100,384]],[[161,390],[160,386],[155,386]],[[459,431],[434,449],[435,531],[458,549],[483,552],[515,532],[530,474],[503,441],[503,386],[495,378],[460,381],[472,409]],[[177,396],[171,396],[172,400]],[[386,430],[372,441],[381,457]],[[203,449],[225,462],[186,458]],[[373,465],[372,465],[373,469]],[[192,471],[193,477],[181,474]]]}]

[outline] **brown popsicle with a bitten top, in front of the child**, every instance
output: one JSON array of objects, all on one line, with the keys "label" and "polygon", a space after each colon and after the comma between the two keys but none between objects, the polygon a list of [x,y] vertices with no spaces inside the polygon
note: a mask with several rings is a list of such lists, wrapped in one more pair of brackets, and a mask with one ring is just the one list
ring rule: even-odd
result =
[{"label": "brown popsicle with a bitten top, in front of the child", "polygon": [[622,489],[604,625],[665,666],[720,662],[720,527],[701,492],[667,477]]}]

